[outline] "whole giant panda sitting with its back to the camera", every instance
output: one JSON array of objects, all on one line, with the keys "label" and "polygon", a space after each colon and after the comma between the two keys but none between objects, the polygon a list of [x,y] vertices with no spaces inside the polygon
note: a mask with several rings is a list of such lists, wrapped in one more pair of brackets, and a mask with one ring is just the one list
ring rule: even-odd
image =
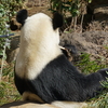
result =
[{"label": "whole giant panda sitting with its back to the camera", "polygon": [[59,49],[60,14],[53,18],[43,13],[28,16],[27,10],[21,10],[16,19],[22,29],[14,81],[25,100],[84,102],[103,90],[100,81],[108,77],[108,68],[82,75]]}]

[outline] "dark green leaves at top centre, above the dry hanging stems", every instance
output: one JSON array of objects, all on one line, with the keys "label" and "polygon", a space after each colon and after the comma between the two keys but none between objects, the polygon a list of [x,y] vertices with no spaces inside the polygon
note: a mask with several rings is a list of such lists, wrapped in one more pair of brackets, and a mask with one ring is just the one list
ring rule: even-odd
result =
[{"label": "dark green leaves at top centre, above the dry hanging stems", "polygon": [[58,11],[63,14],[69,12],[72,17],[80,14],[81,4],[83,2],[91,3],[92,0],[50,0],[51,11]]}]

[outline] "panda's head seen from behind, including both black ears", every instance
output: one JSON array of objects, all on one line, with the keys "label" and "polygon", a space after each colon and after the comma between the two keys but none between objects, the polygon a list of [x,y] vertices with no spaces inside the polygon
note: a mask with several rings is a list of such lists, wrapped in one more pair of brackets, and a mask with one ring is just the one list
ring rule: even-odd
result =
[{"label": "panda's head seen from behind, including both black ears", "polygon": [[[63,16],[58,13],[53,18],[46,14],[37,13],[28,17],[27,10],[17,13],[16,21],[22,24],[22,36],[28,39],[39,39],[51,37],[53,41],[59,43],[58,27],[63,25]],[[50,41],[50,40],[49,40]]]}]

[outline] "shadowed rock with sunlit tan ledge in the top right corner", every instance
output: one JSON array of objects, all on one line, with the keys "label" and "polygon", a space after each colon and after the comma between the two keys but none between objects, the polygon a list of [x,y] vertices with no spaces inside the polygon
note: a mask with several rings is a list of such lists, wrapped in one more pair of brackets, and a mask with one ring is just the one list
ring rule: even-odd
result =
[{"label": "shadowed rock with sunlit tan ledge in the top right corner", "polygon": [[92,0],[87,10],[94,15],[95,21],[108,19],[108,0]]}]

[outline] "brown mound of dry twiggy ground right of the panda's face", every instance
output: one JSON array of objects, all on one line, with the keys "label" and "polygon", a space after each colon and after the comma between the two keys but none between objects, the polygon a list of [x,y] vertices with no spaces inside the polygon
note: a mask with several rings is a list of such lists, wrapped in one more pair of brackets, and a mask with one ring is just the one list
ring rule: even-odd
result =
[{"label": "brown mound of dry twiggy ground right of the panda's face", "polygon": [[[89,53],[93,56],[108,57],[108,32],[105,31],[85,31],[82,33],[63,33],[60,37],[60,45],[75,45],[78,53]],[[105,56],[106,55],[106,56]]]}]

